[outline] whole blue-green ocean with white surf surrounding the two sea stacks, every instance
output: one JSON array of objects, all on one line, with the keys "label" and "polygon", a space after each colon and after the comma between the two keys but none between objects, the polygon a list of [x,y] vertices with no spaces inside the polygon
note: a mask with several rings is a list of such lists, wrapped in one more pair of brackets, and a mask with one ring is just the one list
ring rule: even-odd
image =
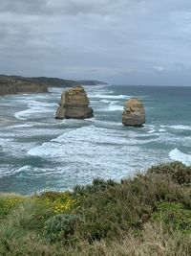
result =
[{"label": "whole blue-green ocean with white surf surrounding the two sea stacks", "polygon": [[[0,97],[0,192],[67,190],[95,177],[120,180],[171,160],[191,165],[191,87],[84,86],[95,118],[55,120],[62,88]],[[140,98],[146,124],[121,124]]]}]

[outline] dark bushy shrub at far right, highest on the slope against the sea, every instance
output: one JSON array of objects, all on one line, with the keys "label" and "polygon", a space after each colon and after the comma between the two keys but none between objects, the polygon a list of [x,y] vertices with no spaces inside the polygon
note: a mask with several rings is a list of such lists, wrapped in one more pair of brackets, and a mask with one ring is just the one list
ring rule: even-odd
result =
[{"label": "dark bushy shrub at far right, highest on the slope against the sea", "polygon": [[191,185],[191,166],[186,166],[178,161],[153,166],[147,173],[167,175],[171,177],[174,182],[180,185]]}]

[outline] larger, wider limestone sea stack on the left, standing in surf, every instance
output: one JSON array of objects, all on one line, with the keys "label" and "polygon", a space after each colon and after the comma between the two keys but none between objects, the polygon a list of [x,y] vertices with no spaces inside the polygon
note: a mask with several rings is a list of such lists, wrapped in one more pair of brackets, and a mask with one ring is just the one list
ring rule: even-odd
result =
[{"label": "larger, wider limestone sea stack on the left, standing in surf", "polygon": [[90,102],[86,91],[82,86],[77,86],[62,93],[55,118],[92,118],[94,117],[93,109],[89,105]]}]

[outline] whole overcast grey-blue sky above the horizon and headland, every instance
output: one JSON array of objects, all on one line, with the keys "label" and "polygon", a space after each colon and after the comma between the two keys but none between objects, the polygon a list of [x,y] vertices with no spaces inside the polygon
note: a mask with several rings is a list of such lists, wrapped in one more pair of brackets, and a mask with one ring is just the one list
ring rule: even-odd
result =
[{"label": "whole overcast grey-blue sky above the horizon and headland", "polygon": [[191,85],[191,1],[0,0],[0,74]]}]

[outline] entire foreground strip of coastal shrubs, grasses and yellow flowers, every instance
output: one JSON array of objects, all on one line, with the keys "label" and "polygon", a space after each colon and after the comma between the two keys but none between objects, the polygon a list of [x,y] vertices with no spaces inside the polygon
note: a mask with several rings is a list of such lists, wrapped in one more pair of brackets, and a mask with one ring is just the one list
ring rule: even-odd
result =
[{"label": "entire foreground strip of coastal shrubs, grasses and yellow flowers", "polygon": [[0,255],[191,255],[191,167],[0,195]]}]

